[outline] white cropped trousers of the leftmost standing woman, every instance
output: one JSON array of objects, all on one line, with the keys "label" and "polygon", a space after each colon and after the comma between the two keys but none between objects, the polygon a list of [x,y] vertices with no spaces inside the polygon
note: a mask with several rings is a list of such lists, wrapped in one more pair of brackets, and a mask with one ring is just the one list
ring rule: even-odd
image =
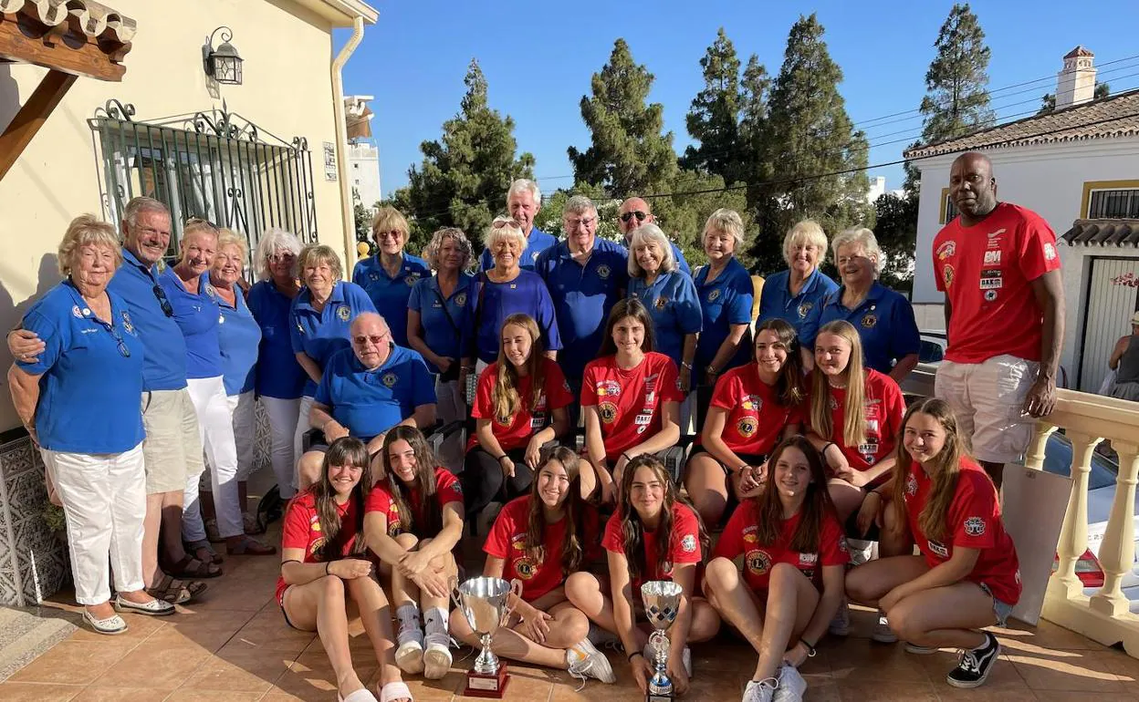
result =
[{"label": "white cropped trousers of the leftmost standing woman", "polygon": [[142,444],[118,454],[81,454],[40,449],[67,520],[75,601],[110,600],[107,569],[115,589],[142,589],[142,520],[146,518],[146,469]]}]

